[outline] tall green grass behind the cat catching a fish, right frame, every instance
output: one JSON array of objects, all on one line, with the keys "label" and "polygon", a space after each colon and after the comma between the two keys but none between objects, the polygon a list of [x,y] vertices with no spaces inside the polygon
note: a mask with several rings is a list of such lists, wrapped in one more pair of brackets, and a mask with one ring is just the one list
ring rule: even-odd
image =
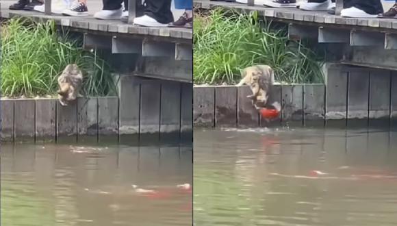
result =
[{"label": "tall green grass behind the cat catching a fish, right frame", "polygon": [[257,14],[217,9],[194,17],[194,83],[235,84],[246,66],[268,64],[277,81],[322,82],[322,58]]}]

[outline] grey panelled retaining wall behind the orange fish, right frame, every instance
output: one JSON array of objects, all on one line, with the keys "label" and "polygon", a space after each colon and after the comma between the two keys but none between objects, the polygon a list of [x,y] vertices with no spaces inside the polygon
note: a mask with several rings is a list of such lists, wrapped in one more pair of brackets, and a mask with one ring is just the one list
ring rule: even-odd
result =
[{"label": "grey panelled retaining wall behind the orange fish, right frame", "polygon": [[274,86],[279,118],[266,122],[246,98],[248,86],[194,87],[194,125],[202,127],[274,127],[397,125],[397,75],[394,71],[329,64],[326,85]]}]

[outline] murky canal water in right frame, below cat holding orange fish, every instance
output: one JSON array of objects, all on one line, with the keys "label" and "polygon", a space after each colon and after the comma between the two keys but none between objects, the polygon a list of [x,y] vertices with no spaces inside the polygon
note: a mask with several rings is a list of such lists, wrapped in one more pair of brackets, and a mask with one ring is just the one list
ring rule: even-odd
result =
[{"label": "murky canal water in right frame, below cat holding orange fish", "polygon": [[196,130],[194,225],[397,225],[397,133]]}]

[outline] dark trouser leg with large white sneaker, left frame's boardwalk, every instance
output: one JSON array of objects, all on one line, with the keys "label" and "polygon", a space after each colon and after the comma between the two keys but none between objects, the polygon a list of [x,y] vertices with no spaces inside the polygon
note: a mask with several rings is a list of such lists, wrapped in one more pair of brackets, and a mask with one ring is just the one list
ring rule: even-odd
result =
[{"label": "dark trouser leg with large white sneaker, left frame's boardwalk", "polygon": [[146,27],[166,27],[174,20],[170,8],[171,0],[146,0],[144,16],[135,18],[133,23]]}]

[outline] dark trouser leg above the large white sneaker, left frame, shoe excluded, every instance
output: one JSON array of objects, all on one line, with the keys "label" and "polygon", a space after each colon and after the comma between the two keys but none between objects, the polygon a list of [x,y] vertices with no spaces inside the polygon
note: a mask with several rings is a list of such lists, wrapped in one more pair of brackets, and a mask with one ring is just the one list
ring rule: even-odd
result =
[{"label": "dark trouser leg above the large white sneaker, left frame, shoe excluded", "polygon": [[146,8],[144,14],[155,18],[159,23],[171,23],[174,16],[171,12],[172,0],[146,0]]}]

